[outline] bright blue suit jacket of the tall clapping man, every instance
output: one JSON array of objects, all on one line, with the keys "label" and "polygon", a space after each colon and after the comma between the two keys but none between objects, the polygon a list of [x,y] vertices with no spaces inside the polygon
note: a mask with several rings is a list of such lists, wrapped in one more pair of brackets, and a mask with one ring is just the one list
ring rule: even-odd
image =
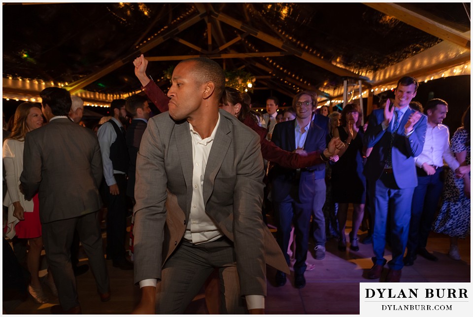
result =
[{"label": "bright blue suit jacket of the tall clapping man", "polygon": [[383,130],[381,126],[384,120],[384,109],[376,109],[370,115],[368,129],[363,138],[365,145],[373,148],[364,169],[364,174],[370,182],[381,177],[391,147],[391,135],[395,133],[391,158],[396,183],[399,188],[417,186],[414,157],[422,153],[424,147],[427,117],[422,115],[422,118],[414,125],[412,134],[406,137],[404,126],[413,112],[411,108],[405,111],[395,132],[391,131],[391,124],[386,130]]}]

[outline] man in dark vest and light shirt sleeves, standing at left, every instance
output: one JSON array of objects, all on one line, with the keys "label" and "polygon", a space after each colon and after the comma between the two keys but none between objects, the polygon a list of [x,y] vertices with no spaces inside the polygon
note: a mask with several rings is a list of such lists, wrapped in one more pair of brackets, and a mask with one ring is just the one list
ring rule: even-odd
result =
[{"label": "man in dark vest and light shirt sleeves, standing at left", "polygon": [[107,188],[107,259],[122,270],[132,270],[126,259],[125,235],[127,232],[127,172],[130,158],[125,142],[125,99],[115,99],[110,105],[112,118],[97,131],[102,154],[103,177]]}]

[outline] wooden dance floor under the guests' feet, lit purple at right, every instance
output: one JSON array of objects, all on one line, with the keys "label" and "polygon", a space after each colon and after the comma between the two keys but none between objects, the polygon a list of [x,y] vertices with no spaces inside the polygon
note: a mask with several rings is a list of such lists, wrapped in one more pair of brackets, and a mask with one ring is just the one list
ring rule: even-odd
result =
[{"label": "wooden dance floor under the guests' feet, lit purple at right", "polygon": [[[351,222],[348,221],[347,236],[350,231]],[[359,234],[363,238],[366,232],[359,231]],[[104,235],[105,233],[103,233]],[[275,270],[269,267],[267,271],[266,314],[359,314],[359,282],[379,283],[379,281],[364,278],[372,267],[372,246],[360,244],[358,252],[350,251],[348,246],[346,251],[338,251],[337,241],[332,239],[327,242],[325,259],[315,260],[313,257],[314,246],[310,242],[307,262],[313,264],[314,268],[305,273],[307,284],[302,289],[294,288],[293,275],[288,279],[286,285],[275,287]],[[459,241],[462,256],[460,261],[452,260],[447,256],[448,247],[448,237],[431,233],[427,249],[433,252],[439,260],[431,262],[418,256],[413,266],[403,269],[401,281],[470,282],[470,237]],[[81,263],[87,263],[82,249],[81,255]],[[386,257],[390,257],[389,249],[386,250]],[[102,303],[100,301],[90,270],[77,277],[77,289],[83,314],[129,314],[137,303],[139,289],[133,284],[133,271],[122,271],[115,268],[111,261],[107,261],[107,266],[111,286],[111,300],[108,302]],[[383,273],[381,281],[383,281],[386,271]],[[45,270],[41,271],[42,275],[45,273]],[[384,286],[380,284],[375,287]],[[51,298],[54,297],[51,295]],[[40,305],[36,304],[30,296],[24,302],[3,302],[3,308],[9,314],[49,314],[49,308],[58,303],[58,299],[54,298],[51,303]],[[203,292],[196,296],[186,313],[207,314]]]}]

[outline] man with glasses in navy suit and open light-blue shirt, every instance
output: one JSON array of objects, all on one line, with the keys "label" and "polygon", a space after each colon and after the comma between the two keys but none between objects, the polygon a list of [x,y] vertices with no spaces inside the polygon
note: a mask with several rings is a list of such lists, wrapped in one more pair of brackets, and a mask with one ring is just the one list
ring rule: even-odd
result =
[{"label": "man with glasses in navy suit and open light-blue shirt", "polygon": [[[296,119],[278,123],[273,131],[271,141],[286,151],[323,151],[326,148],[328,122],[322,118],[312,121],[317,97],[314,92],[304,91],[293,100],[296,108]],[[320,116],[323,117],[323,116]],[[326,117],[323,117],[326,118]],[[328,118],[326,118],[328,120]],[[315,122],[320,122],[322,127]],[[328,158],[327,158],[328,159]],[[322,207],[325,202],[325,164],[317,164],[301,170],[284,169],[276,166],[271,171],[272,199],[274,210],[278,216],[277,238],[279,246],[289,264],[287,248],[294,217],[296,239],[296,274],[295,286],[305,286],[304,272],[306,269],[310,215],[313,214],[314,240],[317,259],[325,257],[325,218]],[[277,272],[276,284],[286,283],[283,272]]]}]

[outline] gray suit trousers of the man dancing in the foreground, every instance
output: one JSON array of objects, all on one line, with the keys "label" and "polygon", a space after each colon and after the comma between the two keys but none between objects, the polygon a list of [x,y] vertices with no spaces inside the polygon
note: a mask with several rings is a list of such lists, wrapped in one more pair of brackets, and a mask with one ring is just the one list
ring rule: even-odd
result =
[{"label": "gray suit trousers of the man dancing in the foreground", "polygon": [[219,270],[220,314],[246,314],[235,250],[225,237],[200,245],[182,240],[163,267],[162,280],[157,285],[156,313],[184,314],[214,268]]}]

